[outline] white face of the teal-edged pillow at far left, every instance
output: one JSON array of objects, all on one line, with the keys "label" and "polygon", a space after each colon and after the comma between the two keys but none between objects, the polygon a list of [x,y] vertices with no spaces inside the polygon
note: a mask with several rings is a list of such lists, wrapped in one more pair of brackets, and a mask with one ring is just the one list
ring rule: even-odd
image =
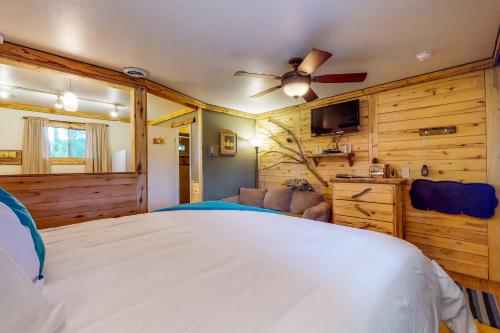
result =
[{"label": "white face of the teal-edged pillow at far left", "polygon": [[21,224],[16,213],[0,202],[0,246],[2,246],[28,279],[35,281],[40,271],[30,230]]}]

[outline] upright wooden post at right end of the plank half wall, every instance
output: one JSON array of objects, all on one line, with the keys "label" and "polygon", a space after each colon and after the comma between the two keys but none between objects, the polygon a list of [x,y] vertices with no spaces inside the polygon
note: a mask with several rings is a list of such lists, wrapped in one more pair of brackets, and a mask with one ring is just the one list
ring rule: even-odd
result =
[{"label": "upright wooden post at right end of the plank half wall", "polygon": [[137,212],[148,211],[148,128],[147,92],[144,87],[135,88],[134,115],[131,119],[134,128],[132,147],[135,148],[133,164],[137,174]]}]

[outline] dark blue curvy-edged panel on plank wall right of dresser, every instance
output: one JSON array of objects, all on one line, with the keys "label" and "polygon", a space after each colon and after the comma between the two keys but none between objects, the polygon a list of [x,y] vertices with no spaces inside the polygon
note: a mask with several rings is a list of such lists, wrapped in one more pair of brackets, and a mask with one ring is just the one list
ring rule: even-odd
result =
[{"label": "dark blue curvy-edged panel on plank wall right of dresser", "polygon": [[487,219],[495,215],[495,188],[482,183],[459,183],[417,179],[410,190],[411,204],[422,210],[464,214]]}]

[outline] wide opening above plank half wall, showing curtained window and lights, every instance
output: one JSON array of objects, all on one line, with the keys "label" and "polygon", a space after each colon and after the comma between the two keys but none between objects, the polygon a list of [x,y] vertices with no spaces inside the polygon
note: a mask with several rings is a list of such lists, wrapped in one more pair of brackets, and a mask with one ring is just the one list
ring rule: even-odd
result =
[{"label": "wide opening above plank half wall, showing curtained window and lights", "polygon": [[0,175],[132,172],[133,91],[0,64]]}]

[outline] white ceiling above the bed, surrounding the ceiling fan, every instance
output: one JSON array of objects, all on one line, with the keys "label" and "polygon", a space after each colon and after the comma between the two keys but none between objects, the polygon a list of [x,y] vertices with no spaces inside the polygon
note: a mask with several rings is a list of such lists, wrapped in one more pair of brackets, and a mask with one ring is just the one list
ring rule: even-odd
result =
[{"label": "white ceiling above the bed, surrounding the ceiling fan", "polygon": [[[316,74],[366,71],[356,84],[313,84],[327,97],[492,55],[499,0],[0,0],[6,40],[120,69],[202,101],[260,113],[298,104],[263,79],[317,47],[334,56]],[[434,56],[418,63],[415,53]]]}]

